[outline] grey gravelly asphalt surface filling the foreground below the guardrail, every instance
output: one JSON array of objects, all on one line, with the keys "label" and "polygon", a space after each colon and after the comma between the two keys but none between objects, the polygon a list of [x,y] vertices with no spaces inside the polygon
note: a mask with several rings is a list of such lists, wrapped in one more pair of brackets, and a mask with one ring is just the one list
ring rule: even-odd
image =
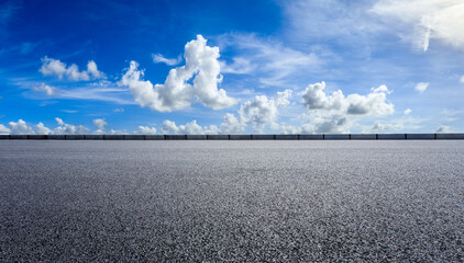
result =
[{"label": "grey gravelly asphalt surface filling the foreground below the guardrail", "polygon": [[464,262],[464,141],[0,141],[0,262]]}]

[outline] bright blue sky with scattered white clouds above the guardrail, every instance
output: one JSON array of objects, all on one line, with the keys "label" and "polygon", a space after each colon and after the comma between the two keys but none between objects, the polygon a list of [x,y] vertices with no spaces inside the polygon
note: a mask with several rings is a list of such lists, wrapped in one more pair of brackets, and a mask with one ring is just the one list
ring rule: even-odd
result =
[{"label": "bright blue sky with scattered white clouds above the guardrail", "polygon": [[464,130],[464,3],[2,1],[0,134]]}]

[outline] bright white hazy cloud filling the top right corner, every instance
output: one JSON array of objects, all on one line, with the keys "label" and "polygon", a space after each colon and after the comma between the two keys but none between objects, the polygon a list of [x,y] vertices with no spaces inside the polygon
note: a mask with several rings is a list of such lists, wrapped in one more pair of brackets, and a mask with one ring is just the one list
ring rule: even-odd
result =
[{"label": "bright white hazy cloud filling the top right corner", "polygon": [[372,11],[386,23],[406,31],[400,36],[416,47],[427,50],[431,39],[464,48],[464,2],[461,0],[386,0],[378,1]]}]

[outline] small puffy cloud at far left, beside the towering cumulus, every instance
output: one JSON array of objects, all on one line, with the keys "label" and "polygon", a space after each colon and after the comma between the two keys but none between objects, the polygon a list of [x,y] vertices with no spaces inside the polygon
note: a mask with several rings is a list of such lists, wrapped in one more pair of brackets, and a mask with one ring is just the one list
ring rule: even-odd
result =
[{"label": "small puffy cloud at far left, beside the towering cumulus", "polygon": [[42,67],[38,71],[44,76],[56,76],[59,79],[66,77],[71,81],[88,81],[91,79],[103,79],[104,73],[99,71],[97,64],[93,60],[90,60],[87,64],[87,70],[79,71],[77,65],[73,64],[69,67],[66,64],[59,61],[58,59],[44,57],[42,58]]}]

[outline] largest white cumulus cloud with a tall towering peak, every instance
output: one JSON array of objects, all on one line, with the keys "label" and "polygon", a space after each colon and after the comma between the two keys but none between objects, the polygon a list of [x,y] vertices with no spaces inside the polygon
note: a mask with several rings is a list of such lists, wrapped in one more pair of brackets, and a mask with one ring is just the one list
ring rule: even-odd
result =
[{"label": "largest white cumulus cloud with a tall towering peak", "polygon": [[[144,72],[137,69],[135,61],[131,61],[119,84],[129,87],[141,106],[159,112],[181,110],[197,100],[213,110],[236,103],[223,89],[218,90],[222,82],[218,47],[207,46],[207,41],[198,35],[186,44],[184,57],[186,65],[172,69],[164,84],[153,85],[151,81],[142,80]],[[187,82],[191,79],[192,84]]]}]

